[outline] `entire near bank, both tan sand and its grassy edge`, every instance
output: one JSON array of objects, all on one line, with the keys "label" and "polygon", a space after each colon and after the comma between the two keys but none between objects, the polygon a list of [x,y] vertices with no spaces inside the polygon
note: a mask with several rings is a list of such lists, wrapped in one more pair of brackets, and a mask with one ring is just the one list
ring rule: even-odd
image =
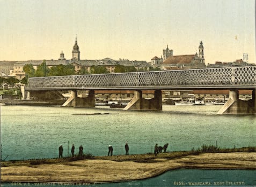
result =
[{"label": "entire near bank, both tan sand and its grassy edge", "polygon": [[108,183],[142,180],[169,170],[256,169],[256,147],[1,161],[2,182]]}]

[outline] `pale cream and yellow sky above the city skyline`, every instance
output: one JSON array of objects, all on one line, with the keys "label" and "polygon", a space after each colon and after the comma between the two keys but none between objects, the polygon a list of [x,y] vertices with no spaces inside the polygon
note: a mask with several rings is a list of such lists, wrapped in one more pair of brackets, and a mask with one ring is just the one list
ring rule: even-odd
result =
[{"label": "pale cream and yellow sky above the city skyline", "polygon": [[248,54],[255,63],[254,0],[0,0],[0,61],[80,58],[151,61],[169,45],[206,64]]}]

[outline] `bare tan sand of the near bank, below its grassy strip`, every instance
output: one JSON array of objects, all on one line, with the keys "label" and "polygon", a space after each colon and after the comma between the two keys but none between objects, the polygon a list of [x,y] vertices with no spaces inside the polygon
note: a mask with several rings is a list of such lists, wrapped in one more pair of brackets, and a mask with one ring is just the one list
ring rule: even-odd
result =
[{"label": "bare tan sand of the near bank, below its grassy strip", "polygon": [[5,163],[1,167],[1,181],[99,183],[139,180],[179,168],[256,169],[255,152],[202,153],[178,159],[168,159],[167,153],[163,155],[165,157],[157,156],[150,162],[120,161],[121,158],[126,160],[128,156],[122,155],[115,156],[116,158],[111,157],[112,160],[97,158],[38,165],[32,165],[29,162]]}]

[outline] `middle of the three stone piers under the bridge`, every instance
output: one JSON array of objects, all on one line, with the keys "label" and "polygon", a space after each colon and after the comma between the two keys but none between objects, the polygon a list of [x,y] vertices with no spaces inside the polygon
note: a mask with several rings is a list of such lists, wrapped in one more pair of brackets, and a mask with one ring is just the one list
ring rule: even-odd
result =
[{"label": "middle of the three stone piers under the bridge", "polygon": [[162,91],[155,90],[155,97],[144,99],[142,91],[134,91],[134,98],[127,104],[123,110],[162,110]]}]

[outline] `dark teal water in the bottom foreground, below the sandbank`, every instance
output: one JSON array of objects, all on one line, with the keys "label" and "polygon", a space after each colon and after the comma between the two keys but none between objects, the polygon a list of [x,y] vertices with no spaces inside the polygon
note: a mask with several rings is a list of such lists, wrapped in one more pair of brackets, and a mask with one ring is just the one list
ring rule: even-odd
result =
[{"label": "dark teal water in the bottom foreground, below the sandbank", "polygon": [[[45,186],[40,183],[23,183],[21,185]],[[47,184],[51,186],[51,184]],[[64,184],[55,184],[64,185]],[[95,186],[95,187],[169,187],[169,186],[255,186],[255,170],[212,170],[212,169],[179,169],[166,172],[157,177],[147,180],[129,181],[121,183],[103,184],[65,184],[64,186]],[[2,186],[14,186],[11,183],[4,183]]]}]

